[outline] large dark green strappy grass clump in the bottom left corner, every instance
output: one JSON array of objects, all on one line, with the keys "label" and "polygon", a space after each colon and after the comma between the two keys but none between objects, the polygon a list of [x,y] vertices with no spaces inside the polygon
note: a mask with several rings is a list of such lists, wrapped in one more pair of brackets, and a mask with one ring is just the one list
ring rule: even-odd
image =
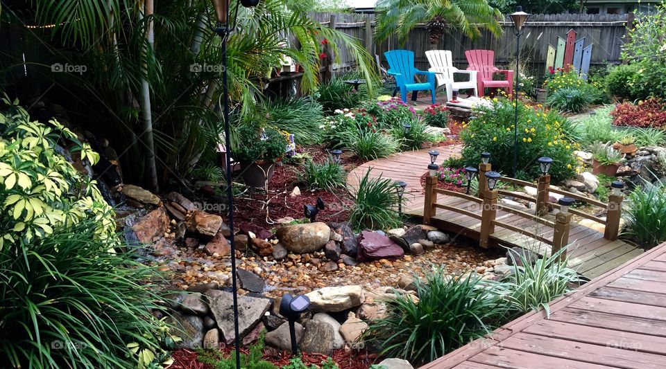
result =
[{"label": "large dark green strappy grass clump in the bottom left corner", "polygon": [[0,360],[24,368],[132,368],[168,354],[151,301],[164,300],[157,269],[136,249],[108,250],[94,219],[59,226],[20,248],[0,251]]}]

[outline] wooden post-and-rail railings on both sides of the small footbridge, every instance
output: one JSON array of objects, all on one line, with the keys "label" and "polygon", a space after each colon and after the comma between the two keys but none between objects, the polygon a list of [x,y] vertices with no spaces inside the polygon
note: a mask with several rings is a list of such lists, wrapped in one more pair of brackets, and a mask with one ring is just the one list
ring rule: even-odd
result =
[{"label": "wooden post-and-rail railings on both sides of the small footbridge", "polygon": [[[536,197],[527,195],[521,192],[514,192],[510,190],[499,190],[497,188],[493,190],[488,190],[488,183],[485,180],[486,172],[491,171],[491,166],[489,163],[479,164],[479,192],[477,197],[472,195],[466,195],[460,192],[455,192],[451,190],[443,190],[437,188],[438,179],[436,176],[427,176],[426,177],[426,186],[425,186],[425,204],[423,209],[423,222],[424,224],[429,224],[432,217],[434,217],[437,209],[450,210],[454,213],[459,213],[461,215],[466,215],[473,219],[481,221],[481,228],[479,230],[479,244],[483,247],[488,247],[490,242],[490,235],[495,233],[495,227],[500,227],[513,231],[515,233],[520,233],[527,237],[531,237],[534,240],[543,242],[551,246],[552,253],[555,253],[563,246],[565,246],[569,241],[569,229],[572,215],[577,215],[584,219],[590,219],[593,222],[597,222],[604,226],[604,238],[607,240],[616,240],[617,235],[620,230],[620,217],[622,215],[622,195],[610,195],[608,197],[608,203],[598,201],[596,199],[589,199],[588,197],[581,196],[579,194],[561,190],[559,188],[554,188],[550,185],[550,175],[543,174],[538,178],[537,183],[531,183],[528,181],[522,181],[520,179],[515,179],[511,177],[500,177],[500,181],[513,183],[517,186],[536,186]],[[560,204],[555,204],[549,201],[550,193],[556,193],[558,195],[563,195],[564,197],[569,197],[575,201],[584,202],[590,206],[596,206],[598,208],[606,210],[606,219],[601,217],[596,217],[588,213],[583,213],[580,210],[569,208],[566,206],[567,210],[563,210],[563,206]],[[437,195],[448,195],[452,197],[457,197],[460,199],[466,199],[471,201],[473,206],[467,206],[462,208],[461,206],[452,206],[450,204],[441,204],[437,202]],[[497,198],[499,195],[514,197],[516,199],[522,199],[524,201],[530,201],[536,204],[536,211],[534,214],[527,213],[526,211],[518,210],[509,206],[503,206],[497,204]],[[478,207],[481,208],[481,211],[478,211]],[[554,222],[545,218],[549,213],[549,208],[556,208],[560,211],[555,214]],[[550,233],[546,232],[532,232],[527,231],[527,229],[520,228],[513,224],[508,224],[497,219],[497,211],[504,211],[505,213],[511,213],[513,215],[518,215],[522,218],[529,219],[533,222],[541,224],[545,227],[552,228],[552,238],[544,237],[545,234]]]}]

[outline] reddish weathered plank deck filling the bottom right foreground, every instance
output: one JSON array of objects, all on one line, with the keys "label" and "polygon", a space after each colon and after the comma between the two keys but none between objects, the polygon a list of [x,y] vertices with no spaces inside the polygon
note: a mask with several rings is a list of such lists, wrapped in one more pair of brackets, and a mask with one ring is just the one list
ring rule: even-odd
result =
[{"label": "reddish weathered plank deck filling the bottom right foreground", "polygon": [[666,244],[422,366],[666,368]]}]

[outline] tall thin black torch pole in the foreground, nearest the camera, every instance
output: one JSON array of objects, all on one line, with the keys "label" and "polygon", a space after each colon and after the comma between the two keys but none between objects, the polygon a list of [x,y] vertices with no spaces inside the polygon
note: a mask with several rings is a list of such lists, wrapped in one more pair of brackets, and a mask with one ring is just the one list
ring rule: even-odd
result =
[{"label": "tall thin black torch pole in the foreground, nearest the camera", "polygon": [[[227,9],[227,19],[229,19],[229,10]],[[231,168],[231,136],[229,133],[229,86],[227,81],[227,36],[229,34],[229,26],[217,28],[217,33],[222,41],[222,98],[223,98],[223,119],[224,119],[224,145],[226,146],[226,179],[227,179],[227,207],[229,217],[229,229],[234,229],[234,196],[232,192],[232,168]],[[234,345],[236,352],[236,369],[241,368],[241,338],[239,337],[238,330],[238,289],[236,286],[236,245],[234,244],[234,237],[230,237],[229,246],[231,249],[231,286],[232,295],[234,300]]]}]

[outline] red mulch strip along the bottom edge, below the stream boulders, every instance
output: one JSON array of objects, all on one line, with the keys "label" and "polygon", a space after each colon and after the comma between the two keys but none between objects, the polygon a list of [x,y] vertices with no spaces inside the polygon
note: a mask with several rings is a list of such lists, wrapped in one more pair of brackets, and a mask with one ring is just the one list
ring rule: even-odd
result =
[{"label": "red mulch strip along the bottom edge, below the stream boulders", "polygon": [[[233,346],[227,346],[221,349],[223,357],[233,357]],[[241,353],[248,354],[248,348],[241,348]],[[172,352],[173,364],[169,369],[212,369],[205,363],[198,361],[197,353],[193,350],[179,349]],[[367,369],[375,361],[377,361],[377,354],[368,354],[366,351],[348,351],[334,350],[330,357],[335,361],[341,369]],[[287,351],[278,351],[273,348],[265,348],[264,356],[262,359],[273,363],[278,368],[289,364],[291,353]],[[302,352],[301,359],[305,365],[315,364],[321,367],[322,361],[326,361],[327,356],[323,354],[309,354]]]}]

